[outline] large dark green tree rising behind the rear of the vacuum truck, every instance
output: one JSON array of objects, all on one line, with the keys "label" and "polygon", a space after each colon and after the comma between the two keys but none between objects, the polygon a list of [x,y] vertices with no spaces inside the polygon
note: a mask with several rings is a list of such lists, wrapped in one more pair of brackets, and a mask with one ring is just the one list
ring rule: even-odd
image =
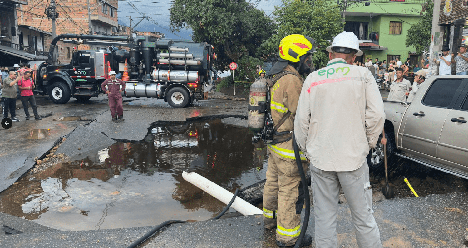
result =
[{"label": "large dark green tree rising behind the rear of the vacuum truck", "polygon": [[256,48],[275,31],[272,20],[245,0],[173,0],[170,28],[192,29],[195,42],[213,45],[216,69],[256,57]]}]

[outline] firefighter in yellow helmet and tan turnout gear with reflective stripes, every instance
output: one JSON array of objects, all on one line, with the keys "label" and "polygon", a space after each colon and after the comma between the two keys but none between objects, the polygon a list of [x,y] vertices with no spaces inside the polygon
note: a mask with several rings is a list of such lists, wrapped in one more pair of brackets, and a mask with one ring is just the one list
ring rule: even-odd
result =
[{"label": "firefighter in yellow helmet and tan turnout gear with reflective stripes", "polygon": [[[278,62],[271,68],[273,81],[270,88],[271,118],[275,133],[274,144],[267,146],[270,155],[263,190],[263,223],[265,228],[276,227],[276,243],[279,247],[295,245],[301,230],[300,212],[304,205],[304,193],[298,166],[294,157],[292,131],[299,95],[304,80],[314,71],[312,53],[314,39],[303,35],[289,35],[279,44]],[[300,152],[302,167],[307,170],[307,160]],[[312,243],[305,234],[300,247]]]}]

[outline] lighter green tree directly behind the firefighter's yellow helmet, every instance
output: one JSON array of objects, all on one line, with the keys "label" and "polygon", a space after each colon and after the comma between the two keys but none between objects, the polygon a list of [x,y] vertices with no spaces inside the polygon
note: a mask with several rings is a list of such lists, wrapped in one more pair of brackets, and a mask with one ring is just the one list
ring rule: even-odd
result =
[{"label": "lighter green tree directly behind the firefighter's yellow helmet", "polygon": [[316,67],[325,66],[328,56],[325,48],[337,34],[343,31],[340,9],[326,0],[283,0],[282,7],[275,7],[274,20],[278,31],[264,41],[258,49],[263,56],[278,53],[281,39],[287,35],[306,35],[315,40],[317,52],[313,59]]}]

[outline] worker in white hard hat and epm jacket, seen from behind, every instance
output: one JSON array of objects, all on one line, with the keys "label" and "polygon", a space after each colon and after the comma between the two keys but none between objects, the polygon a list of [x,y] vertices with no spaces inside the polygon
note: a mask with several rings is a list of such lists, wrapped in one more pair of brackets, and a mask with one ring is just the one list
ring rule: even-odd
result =
[{"label": "worker in white hard hat and epm jacket, seen from behind", "polygon": [[310,161],[315,247],[339,246],[336,219],[341,185],[358,247],[381,248],[366,156],[382,133],[383,101],[369,69],[352,65],[363,54],[354,33],[338,34],[326,50],[330,60],[307,76],[294,121],[296,141]]}]

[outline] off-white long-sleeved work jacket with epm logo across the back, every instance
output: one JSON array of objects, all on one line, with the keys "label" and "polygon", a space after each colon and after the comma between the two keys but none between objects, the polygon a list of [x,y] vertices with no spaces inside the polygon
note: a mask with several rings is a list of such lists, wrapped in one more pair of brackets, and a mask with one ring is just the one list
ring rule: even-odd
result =
[{"label": "off-white long-sleeved work jacket with epm logo across the back", "polygon": [[316,168],[352,171],[364,164],[377,144],[384,121],[383,101],[372,73],[335,58],[305,80],[294,132]]}]

